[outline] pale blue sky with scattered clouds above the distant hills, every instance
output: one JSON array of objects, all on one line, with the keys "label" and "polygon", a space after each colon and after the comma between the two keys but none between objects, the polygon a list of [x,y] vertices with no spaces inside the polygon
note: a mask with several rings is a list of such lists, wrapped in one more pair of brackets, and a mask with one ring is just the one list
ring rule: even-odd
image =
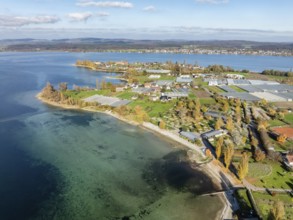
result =
[{"label": "pale blue sky with scattered clouds above the distant hills", "polygon": [[0,0],[0,39],[293,42],[292,0]]}]

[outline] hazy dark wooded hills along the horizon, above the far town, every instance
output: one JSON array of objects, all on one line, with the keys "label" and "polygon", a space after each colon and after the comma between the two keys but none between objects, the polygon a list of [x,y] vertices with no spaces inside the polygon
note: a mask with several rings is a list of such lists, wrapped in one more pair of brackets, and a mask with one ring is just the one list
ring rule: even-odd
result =
[{"label": "hazy dark wooded hills along the horizon, above the far town", "polygon": [[0,40],[0,46],[5,51],[35,51],[35,50],[70,50],[70,51],[99,51],[124,49],[184,49],[199,48],[209,50],[272,50],[293,51],[293,42],[254,42],[240,40],[131,40],[131,39],[103,39],[103,38],[75,38],[75,39],[7,39]]}]

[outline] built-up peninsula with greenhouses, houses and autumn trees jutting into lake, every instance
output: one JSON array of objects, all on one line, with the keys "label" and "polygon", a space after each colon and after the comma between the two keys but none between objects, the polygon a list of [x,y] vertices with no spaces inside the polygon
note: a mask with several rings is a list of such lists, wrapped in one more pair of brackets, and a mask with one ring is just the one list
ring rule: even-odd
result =
[{"label": "built-up peninsula with greenhouses, houses and autumn trees jutting into lake", "polygon": [[97,79],[94,88],[72,89],[65,82],[58,89],[48,83],[41,98],[110,111],[178,135],[202,152],[202,163],[233,179],[227,180],[226,192],[237,199],[230,205],[239,218],[267,219],[278,207],[284,219],[293,219],[291,71],[255,73],[171,61],[78,60],[76,66],[97,75],[117,73],[121,83]]}]

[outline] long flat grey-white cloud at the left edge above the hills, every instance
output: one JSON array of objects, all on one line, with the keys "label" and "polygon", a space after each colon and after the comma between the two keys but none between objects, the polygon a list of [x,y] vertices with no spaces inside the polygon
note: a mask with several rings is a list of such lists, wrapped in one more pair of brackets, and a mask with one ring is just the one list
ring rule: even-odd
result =
[{"label": "long flat grey-white cloud at the left edge above the hills", "polygon": [[53,24],[60,19],[56,16],[8,16],[0,15],[0,26],[2,27],[20,27],[30,24]]}]

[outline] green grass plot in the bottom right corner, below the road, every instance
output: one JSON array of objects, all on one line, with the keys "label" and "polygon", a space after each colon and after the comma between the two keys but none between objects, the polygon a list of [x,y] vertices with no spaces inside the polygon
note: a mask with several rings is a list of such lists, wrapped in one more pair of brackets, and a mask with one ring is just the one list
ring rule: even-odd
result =
[{"label": "green grass plot in the bottom right corner, below the road", "polygon": [[293,219],[293,198],[290,195],[279,193],[275,196],[271,196],[268,193],[261,192],[253,192],[252,194],[263,219],[268,219],[274,201],[277,200],[280,200],[284,203],[286,213],[284,219]]}]

